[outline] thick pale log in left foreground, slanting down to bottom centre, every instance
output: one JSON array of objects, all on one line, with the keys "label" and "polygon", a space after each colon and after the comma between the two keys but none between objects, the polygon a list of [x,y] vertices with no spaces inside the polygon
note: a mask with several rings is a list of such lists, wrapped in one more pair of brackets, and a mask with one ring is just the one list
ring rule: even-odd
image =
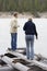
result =
[{"label": "thick pale log in left foreground, slanting down to bottom centre", "polygon": [[7,56],[4,56],[4,57],[2,58],[2,60],[5,61],[8,64],[12,66],[14,69],[17,69],[17,70],[20,70],[20,71],[24,71],[24,70],[27,71],[27,70],[30,69],[28,67],[26,67],[26,66],[24,66],[24,64],[22,64],[22,63],[20,63],[20,62],[16,62],[16,63],[12,62],[13,59],[10,59],[10,58],[7,57]]}]

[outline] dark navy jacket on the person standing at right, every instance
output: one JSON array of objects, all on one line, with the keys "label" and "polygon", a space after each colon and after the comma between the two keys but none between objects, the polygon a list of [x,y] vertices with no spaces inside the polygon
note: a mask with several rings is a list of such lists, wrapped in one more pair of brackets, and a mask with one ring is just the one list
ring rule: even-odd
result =
[{"label": "dark navy jacket on the person standing at right", "polygon": [[26,22],[23,29],[26,35],[36,35],[37,37],[36,26],[32,21]]}]

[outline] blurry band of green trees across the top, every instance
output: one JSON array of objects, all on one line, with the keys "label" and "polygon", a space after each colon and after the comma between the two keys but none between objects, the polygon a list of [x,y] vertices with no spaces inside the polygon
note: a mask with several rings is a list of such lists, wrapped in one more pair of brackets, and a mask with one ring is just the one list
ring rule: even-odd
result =
[{"label": "blurry band of green trees across the top", "polygon": [[0,11],[47,11],[47,0],[0,0]]}]

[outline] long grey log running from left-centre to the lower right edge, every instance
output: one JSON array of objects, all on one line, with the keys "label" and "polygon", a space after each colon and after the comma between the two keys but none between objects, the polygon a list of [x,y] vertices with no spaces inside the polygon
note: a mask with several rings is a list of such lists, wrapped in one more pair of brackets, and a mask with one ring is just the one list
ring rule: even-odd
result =
[{"label": "long grey log running from left-centre to the lower right edge", "polygon": [[15,56],[17,56],[17,57],[20,57],[20,58],[22,58],[24,60],[26,60],[27,62],[34,63],[35,66],[37,66],[37,67],[39,67],[39,68],[42,68],[44,70],[47,70],[47,64],[46,63],[43,63],[43,62],[37,61],[37,60],[27,60],[24,55],[19,54],[19,52],[15,52],[15,51],[13,51],[13,52],[12,51],[9,51],[9,52],[10,54],[13,54],[13,55],[15,55]]}]

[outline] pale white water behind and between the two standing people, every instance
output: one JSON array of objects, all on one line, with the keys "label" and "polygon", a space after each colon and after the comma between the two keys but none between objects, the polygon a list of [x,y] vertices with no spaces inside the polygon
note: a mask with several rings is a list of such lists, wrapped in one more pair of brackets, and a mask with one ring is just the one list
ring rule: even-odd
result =
[{"label": "pale white water behind and between the two standing people", "polygon": [[[11,17],[0,19],[0,55],[11,47],[10,22]],[[17,47],[26,47],[23,25],[27,19],[19,19]],[[33,19],[36,24],[38,39],[34,42],[34,51],[47,57],[47,19]]]}]

